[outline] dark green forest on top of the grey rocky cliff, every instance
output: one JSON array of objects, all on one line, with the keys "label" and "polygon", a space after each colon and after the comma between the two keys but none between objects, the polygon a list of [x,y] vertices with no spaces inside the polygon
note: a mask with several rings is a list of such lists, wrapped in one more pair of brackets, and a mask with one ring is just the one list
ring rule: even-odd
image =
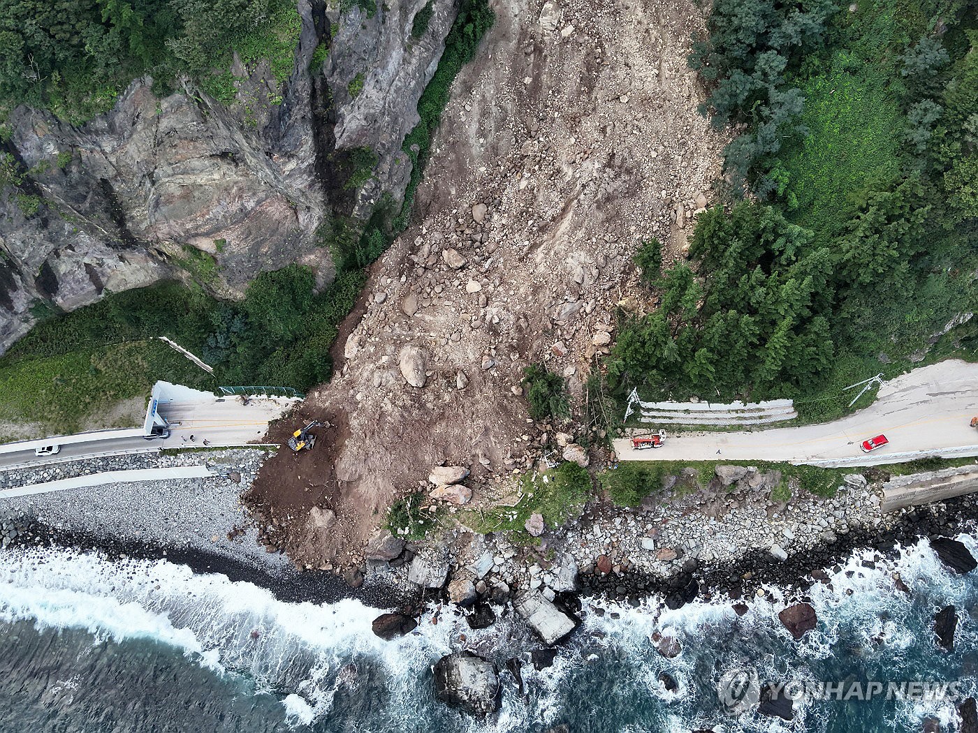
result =
[{"label": "dark green forest on top of the grey rocky cliff", "polygon": [[299,16],[289,0],[0,0],[0,108],[49,108],[80,122],[112,107],[137,76],[157,94],[181,74],[234,98],[231,55],[292,70]]}]

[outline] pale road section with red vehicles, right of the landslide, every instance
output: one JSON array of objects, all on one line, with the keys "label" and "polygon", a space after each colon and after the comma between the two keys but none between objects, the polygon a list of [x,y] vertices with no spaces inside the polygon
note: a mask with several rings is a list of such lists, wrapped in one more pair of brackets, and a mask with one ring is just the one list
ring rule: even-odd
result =
[{"label": "pale road section with red vehicles, right of the landslide", "polygon": [[[978,364],[948,360],[883,384],[876,401],[834,422],[738,432],[673,433],[651,451],[614,441],[619,460],[770,460],[821,465],[876,465],[923,455],[978,455]],[[652,427],[652,426],[650,426]],[[641,433],[642,431],[637,431]],[[860,444],[880,433],[890,443],[872,453]]]}]

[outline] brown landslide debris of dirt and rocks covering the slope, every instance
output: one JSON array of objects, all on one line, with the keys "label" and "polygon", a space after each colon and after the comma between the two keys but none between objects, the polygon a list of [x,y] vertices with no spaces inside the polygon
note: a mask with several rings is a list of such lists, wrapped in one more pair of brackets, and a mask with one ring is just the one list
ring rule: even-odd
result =
[{"label": "brown landslide debris of dirt and rocks covering the slope", "polygon": [[[302,406],[339,426],[313,453],[267,461],[255,489],[266,513],[289,507],[282,546],[301,562],[356,562],[432,465],[470,466],[474,501],[526,465],[546,426],[514,394],[523,368],[546,362],[579,395],[616,304],[645,307],[639,243],[659,237],[679,256],[719,173],[725,141],[697,113],[686,65],[703,23],[692,2],[494,9],[456,81],[419,222],[375,266],[333,381]],[[400,368],[407,346],[423,387]],[[334,512],[329,530],[307,522],[314,505]]]}]

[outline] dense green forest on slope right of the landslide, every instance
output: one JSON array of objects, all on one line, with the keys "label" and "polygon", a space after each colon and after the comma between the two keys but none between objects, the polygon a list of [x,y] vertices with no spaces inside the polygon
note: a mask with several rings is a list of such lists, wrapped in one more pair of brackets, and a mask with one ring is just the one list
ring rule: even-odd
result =
[{"label": "dense green forest on slope right of the landslide", "polygon": [[[718,0],[689,65],[725,151],[687,261],[636,255],[659,308],[623,318],[608,379],[644,399],[794,398],[924,358],[974,359],[978,24],[961,0]],[[929,349],[929,351],[928,351]],[[871,394],[867,395],[871,399]],[[861,403],[862,404],[862,403]]]}]

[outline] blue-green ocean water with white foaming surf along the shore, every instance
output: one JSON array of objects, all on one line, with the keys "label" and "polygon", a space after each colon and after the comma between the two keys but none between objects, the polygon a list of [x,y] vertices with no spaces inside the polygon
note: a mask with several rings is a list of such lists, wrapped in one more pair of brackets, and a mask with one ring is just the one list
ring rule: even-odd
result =
[{"label": "blue-green ocean water with white foaming surf along the shore", "polygon": [[[978,554],[978,543],[960,538]],[[734,669],[762,681],[957,681],[978,694],[978,578],[953,576],[925,543],[892,566],[850,558],[831,587],[810,591],[819,625],[801,642],[778,624],[778,588],[737,617],[729,602],[660,612],[600,604],[554,666],[523,665],[524,695],[505,662],[534,645],[502,618],[472,631],[434,609],[418,631],[384,642],[378,615],[356,600],[290,603],[249,582],[195,575],[164,560],[112,562],[98,552],[0,554],[0,732],[59,731],[920,731],[924,717],[954,730],[947,699],[795,702],[792,722],[731,714],[718,683]],[[911,586],[894,588],[892,570]],[[954,604],[956,649],[934,643],[933,618]],[[589,602],[585,599],[585,606]],[[431,620],[437,616],[438,623]],[[613,618],[617,616],[617,618]],[[650,634],[678,638],[665,659]],[[465,635],[465,640],[461,637]],[[475,720],[437,702],[431,667],[470,648],[495,659],[502,709]],[[659,674],[679,684],[667,692]]]}]

